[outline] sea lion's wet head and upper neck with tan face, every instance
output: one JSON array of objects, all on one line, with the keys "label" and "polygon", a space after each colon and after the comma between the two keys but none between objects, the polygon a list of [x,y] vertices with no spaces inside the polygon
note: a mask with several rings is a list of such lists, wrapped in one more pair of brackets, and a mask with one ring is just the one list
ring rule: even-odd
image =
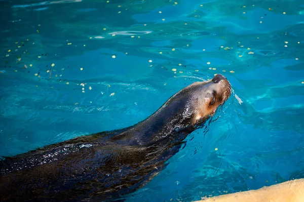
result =
[{"label": "sea lion's wet head and upper neck with tan face", "polygon": [[[227,78],[216,74],[205,82],[195,82],[173,95],[161,108],[163,116],[179,128],[196,125],[213,115],[231,95]],[[165,113],[164,113],[165,112]],[[168,117],[168,115],[167,115]]]}]

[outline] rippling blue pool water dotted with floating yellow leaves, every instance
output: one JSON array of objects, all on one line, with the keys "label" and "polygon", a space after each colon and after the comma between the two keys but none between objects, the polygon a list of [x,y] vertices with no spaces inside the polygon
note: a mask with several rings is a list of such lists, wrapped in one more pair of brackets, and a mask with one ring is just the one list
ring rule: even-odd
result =
[{"label": "rippling blue pool water dotted with floating yellow leaves", "polygon": [[1,0],[0,11],[0,156],[131,126],[221,73],[234,92],[219,118],[127,201],[304,177],[302,1]]}]

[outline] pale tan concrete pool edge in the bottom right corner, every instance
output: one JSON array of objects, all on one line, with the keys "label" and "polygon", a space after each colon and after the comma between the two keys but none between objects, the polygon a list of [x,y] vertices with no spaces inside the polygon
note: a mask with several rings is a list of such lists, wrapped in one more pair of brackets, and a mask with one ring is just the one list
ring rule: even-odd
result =
[{"label": "pale tan concrete pool edge in the bottom right corner", "polygon": [[304,178],[290,180],[257,190],[242,191],[210,197],[194,202],[302,202],[304,201]]}]

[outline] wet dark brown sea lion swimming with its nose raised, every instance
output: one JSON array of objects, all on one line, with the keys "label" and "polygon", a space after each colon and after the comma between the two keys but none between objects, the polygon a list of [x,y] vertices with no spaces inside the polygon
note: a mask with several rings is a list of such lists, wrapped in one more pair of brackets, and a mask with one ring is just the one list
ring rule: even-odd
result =
[{"label": "wet dark brown sea lion swimming with its nose raised", "polygon": [[0,161],[1,201],[107,201],[136,190],[165,168],[185,137],[231,94],[220,74],[173,95],[122,130],[46,146]]}]

